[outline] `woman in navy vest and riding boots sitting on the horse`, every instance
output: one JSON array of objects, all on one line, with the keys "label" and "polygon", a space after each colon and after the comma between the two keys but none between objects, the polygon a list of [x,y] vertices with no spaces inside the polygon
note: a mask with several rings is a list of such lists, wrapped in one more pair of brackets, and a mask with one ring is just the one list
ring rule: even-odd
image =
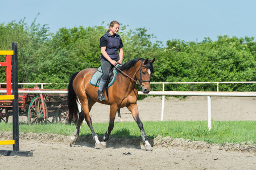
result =
[{"label": "woman in navy vest and riding boots sitting on the horse", "polygon": [[108,82],[109,73],[112,67],[123,61],[123,42],[117,34],[119,31],[119,23],[115,20],[109,24],[108,31],[100,39],[101,48],[101,68],[103,76],[100,80],[98,88],[98,100],[105,100],[102,96],[106,83]]}]

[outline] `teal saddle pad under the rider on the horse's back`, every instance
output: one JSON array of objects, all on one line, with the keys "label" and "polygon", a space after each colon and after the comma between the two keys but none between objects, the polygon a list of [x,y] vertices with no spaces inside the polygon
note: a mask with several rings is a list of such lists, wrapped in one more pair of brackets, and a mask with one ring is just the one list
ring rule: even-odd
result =
[{"label": "teal saddle pad under the rider on the horse's back", "polygon": [[[102,69],[101,69],[101,67],[98,67],[98,71],[96,71],[94,74],[93,74],[93,76],[92,76],[92,78],[90,78],[90,84],[92,85],[92,86],[97,86],[97,87],[99,87],[100,86],[100,77],[102,76]],[[114,67],[114,69],[113,69],[113,78],[110,80],[110,82],[108,83],[108,88],[110,87],[110,86],[112,86],[112,84],[115,82],[115,78],[117,77],[117,69]]]}]

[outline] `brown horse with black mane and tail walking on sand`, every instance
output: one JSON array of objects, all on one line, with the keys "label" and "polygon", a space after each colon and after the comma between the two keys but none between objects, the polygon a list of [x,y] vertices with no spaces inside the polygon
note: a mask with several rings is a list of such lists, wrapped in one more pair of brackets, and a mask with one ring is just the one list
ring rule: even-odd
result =
[{"label": "brown horse with black mane and tail walking on sand", "polygon": [[[77,118],[77,99],[79,99],[82,105],[82,112],[79,113],[76,130],[71,137],[71,146],[75,143],[76,138],[79,135],[81,123],[85,118],[85,121],[92,131],[93,139],[96,142],[96,148],[105,148],[106,141],[108,141],[109,135],[114,128],[115,114],[117,113],[117,110],[127,107],[141,130],[146,150],[152,150],[141,119],[139,118],[137,105],[138,91],[135,85],[138,83],[137,80],[139,80],[139,84],[142,86],[142,92],[144,94],[150,92],[150,77],[154,73],[152,66],[154,61],[155,58],[151,61],[149,61],[148,58],[135,58],[119,67],[119,73],[117,74],[115,82],[108,89],[108,96],[106,97],[106,92],[104,93],[104,101],[97,99],[98,87],[90,84],[90,78],[98,69],[85,69],[71,76],[68,85],[69,122],[71,122],[74,116]],[[90,109],[96,102],[110,105],[109,127],[104,135],[103,142],[99,141],[98,135],[93,130],[92,119],[89,115]]]}]

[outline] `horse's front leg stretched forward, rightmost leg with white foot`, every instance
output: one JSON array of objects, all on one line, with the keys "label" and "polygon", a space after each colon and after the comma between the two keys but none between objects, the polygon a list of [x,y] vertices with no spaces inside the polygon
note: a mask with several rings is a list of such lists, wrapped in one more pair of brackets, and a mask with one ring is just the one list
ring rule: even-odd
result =
[{"label": "horse's front leg stretched forward, rightmost leg with white foot", "polygon": [[137,122],[137,125],[139,126],[139,129],[141,130],[142,140],[145,142],[145,148],[147,151],[152,151],[153,148],[151,147],[150,143],[148,142],[147,135],[145,133],[145,130],[143,128],[143,124],[141,121],[141,118],[139,118],[139,110],[137,104],[130,104],[128,107],[129,111],[131,112],[131,115],[133,116],[134,120]]}]

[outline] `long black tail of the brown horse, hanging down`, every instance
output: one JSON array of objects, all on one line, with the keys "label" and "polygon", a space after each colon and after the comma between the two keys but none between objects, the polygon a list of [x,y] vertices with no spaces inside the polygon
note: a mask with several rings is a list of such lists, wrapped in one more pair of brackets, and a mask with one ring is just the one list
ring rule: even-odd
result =
[{"label": "long black tail of the brown horse, hanging down", "polygon": [[69,84],[68,84],[68,121],[69,121],[69,123],[72,122],[73,118],[75,118],[75,123],[76,123],[77,113],[79,112],[79,109],[76,104],[76,93],[73,89],[73,81],[76,78],[76,75],[78,73],[79,72],[71,75],[71,78],[70,78]]}]

